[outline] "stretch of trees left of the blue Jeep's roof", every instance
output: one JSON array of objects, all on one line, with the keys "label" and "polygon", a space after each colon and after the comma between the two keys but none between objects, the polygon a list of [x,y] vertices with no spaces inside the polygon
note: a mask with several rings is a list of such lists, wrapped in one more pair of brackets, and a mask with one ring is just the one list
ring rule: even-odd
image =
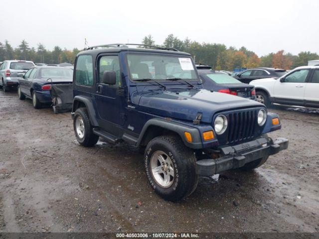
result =
[{"label": "stretch of trees left of the blue Jeep's roof", "polygon": [[80,52],[79,49],[74,48],[62,50],[59,46],[55,46],[52,51],[45,49],[44,45],[39,43],[37,47],[29,47],[27,41],[22,40],[18,47],[14,48],[5,40],[0,42],[0,61],[4,60],[25,60],[36,63],[59,64],[68,62],[74,64],[75,56]]}]

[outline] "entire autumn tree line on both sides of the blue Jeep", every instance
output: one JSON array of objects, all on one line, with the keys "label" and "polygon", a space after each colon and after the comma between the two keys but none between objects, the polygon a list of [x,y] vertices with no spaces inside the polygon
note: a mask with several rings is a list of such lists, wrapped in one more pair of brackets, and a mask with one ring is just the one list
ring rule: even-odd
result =
[{"label": "entire autumn tree line on both sides of the blue Jeep", "polygon": [[[155,45],[152,35],[145,36],[142,44]],[[302,51],[298,55],[286,53],[280,50],[276,53],[269,53],[259,57],[255,52],[242,46],[239,49],[235,47],[226,47],[224,44],[217,43],[199,43],[189,38],[180,40],[173,34],[169,34],[161,45],[167,48],[176,48],[180,51],[190,53],[195,62],[207,64],[216,70],[233,70],[241,67],[275,67],[282,69],[293,69],[298,66],[308,65],[310,60],[318,60],[319,55],[310,51]],[[75,56],[80,50],[73,48],[63,50],[55,46],[53,50],[45,49],[41,43],[37,47],[29,47],[27,41],[22,40],[20,44],[13,49],[7,40],[0,42],[0,61],[3,60],[30,60],[36,63],[59,64],[68,62],[74,64]]]}]

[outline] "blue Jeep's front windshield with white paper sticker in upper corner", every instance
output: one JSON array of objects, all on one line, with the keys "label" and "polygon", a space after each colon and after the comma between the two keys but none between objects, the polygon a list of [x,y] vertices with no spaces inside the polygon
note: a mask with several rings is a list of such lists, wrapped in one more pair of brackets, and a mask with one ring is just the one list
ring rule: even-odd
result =
[{"label": "blue Jeep's front windshield with white paper sticker in upper corner", "polygon": [[132,80],[172,78],[197,80],[193,62],[187,56],[129,54],[127,59]]}]

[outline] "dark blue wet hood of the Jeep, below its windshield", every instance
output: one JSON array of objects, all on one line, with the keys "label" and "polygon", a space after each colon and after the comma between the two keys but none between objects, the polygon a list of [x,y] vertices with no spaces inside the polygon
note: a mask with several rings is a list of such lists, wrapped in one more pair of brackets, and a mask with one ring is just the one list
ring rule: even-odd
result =
[{"label": "dark blue wet hood of the Jeep, below its windshield", "polygon": [[201,122],[206,123],[212,122],[218,112],[264,107],[256,101],[204,89],[139,91],[133,94],[132,100],[142,112],[191,121],[201,113]]}]

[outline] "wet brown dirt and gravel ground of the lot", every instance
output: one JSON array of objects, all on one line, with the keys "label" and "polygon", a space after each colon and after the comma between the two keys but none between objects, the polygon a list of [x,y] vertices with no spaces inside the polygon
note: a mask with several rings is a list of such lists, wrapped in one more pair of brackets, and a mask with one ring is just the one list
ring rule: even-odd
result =
[{"label": "wet brown dirt and gravel ground of the lot", "polygon": [[319,232],[319,113],[283,108],[289,149],[261,168],[200,178],[171,203],[127,144],[75,140],[70,113],[0,92],[0,232]]}]

